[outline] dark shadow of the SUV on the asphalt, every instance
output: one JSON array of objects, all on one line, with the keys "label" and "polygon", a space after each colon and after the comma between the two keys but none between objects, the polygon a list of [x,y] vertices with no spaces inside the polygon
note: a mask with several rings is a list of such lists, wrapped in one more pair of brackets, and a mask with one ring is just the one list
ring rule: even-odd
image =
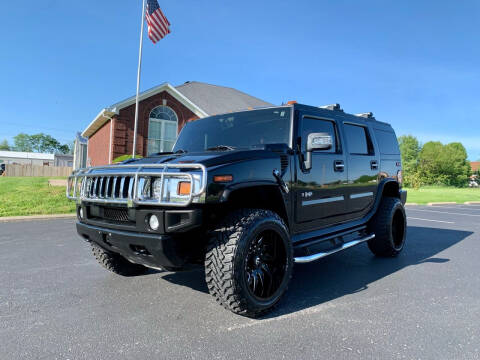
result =
[{"label": "dark shadow of the SUV on the asphalt", "polygon": [[[471,231],[409,226],[406,247],[396,258],[377,258],[366,244],[361,244],[317,262],[297,264],[286,296],[274,311],[263,318],[297,312],[363,291],[369,284],[407,266],[422,263],[441,266],[449,259],[433,256],[471,234]],[[177,285],[208,292],[202,270],[168,273],[163,278]]]}]

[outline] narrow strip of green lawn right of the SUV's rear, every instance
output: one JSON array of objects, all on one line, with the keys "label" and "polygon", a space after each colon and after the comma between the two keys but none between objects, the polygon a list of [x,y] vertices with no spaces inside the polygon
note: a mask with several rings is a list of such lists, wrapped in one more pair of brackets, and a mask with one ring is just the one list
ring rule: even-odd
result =
[{"label": "narrow strip of green lawn right of the SUV's rear", "polygon": [[480,201],[480,188],[453,188],[441,186],[425,186],[408,190],[407,203],[426,204],[429,202]]}]

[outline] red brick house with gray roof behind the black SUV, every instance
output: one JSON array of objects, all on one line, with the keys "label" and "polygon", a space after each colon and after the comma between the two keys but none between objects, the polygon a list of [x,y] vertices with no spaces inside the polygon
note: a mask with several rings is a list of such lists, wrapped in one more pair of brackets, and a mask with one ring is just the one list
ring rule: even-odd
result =
[{"label": "red brick house with gray roof behind the black SUV", "polygon": [[[136,153],[170,151],[189,121],[271,105],[230,87],[196,81],[175,87],[164,83],[140,94]],[[100,111],[82,132],[88,138],[87,164],[105,165],[131,154],[134,122],[135,96]]]}]

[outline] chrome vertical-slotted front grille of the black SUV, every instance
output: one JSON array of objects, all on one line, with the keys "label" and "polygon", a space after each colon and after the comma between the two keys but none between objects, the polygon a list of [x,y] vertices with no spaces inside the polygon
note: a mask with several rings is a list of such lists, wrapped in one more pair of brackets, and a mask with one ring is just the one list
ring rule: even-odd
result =
[{"label": "chrome vertical-slotted front grille of the black SUV", "polygon": [[87,199],[128,199],[133,193],[133,176],[87,177],[84,196]]}]

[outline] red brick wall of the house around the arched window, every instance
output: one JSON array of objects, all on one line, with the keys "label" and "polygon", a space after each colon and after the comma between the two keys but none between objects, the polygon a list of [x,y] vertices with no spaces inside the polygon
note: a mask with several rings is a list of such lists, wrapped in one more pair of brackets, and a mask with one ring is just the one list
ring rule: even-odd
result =
[{"label": "red brick wall of the house around the arched window", "polygon": [[[177,101],[168,92],[163,91],[140,102],[138,113],[138,134],[136,153],[147,154],[148,119],[153,108],[166,105],[175,111],[178,117],[178,132],[182,127],[198,116]],[[135,123],[135,104],[120,110],[113,122],[112,160],[118,156],[131,154],[133,149],[133,129]],[[88,157],[92,166],[109,163],[110,121],[107,121],[88,140]]]}]

